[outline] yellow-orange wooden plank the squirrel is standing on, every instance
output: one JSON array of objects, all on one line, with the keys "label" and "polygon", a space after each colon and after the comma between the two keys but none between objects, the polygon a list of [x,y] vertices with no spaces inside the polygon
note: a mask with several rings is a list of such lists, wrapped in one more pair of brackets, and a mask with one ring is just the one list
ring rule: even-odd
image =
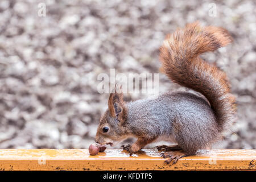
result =
[{"label": "yellow-orange wooden plank the squirrel is standing on", "polygon": [[256,170],[256,150],[212,150],[174,165],[164,160],[156,150],[133,156],[122,150],[96,156],[87,149],[0,150],[0,170]]}]

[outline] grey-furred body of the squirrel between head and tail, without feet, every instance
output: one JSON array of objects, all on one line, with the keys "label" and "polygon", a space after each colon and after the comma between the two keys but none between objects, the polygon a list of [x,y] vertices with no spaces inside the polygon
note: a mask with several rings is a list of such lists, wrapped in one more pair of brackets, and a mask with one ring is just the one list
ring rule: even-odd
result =
[{"label": "grey-furred body of the squirrel between head and tail, without feet", "polygon": [[213,110],[192,93],[164,93],[155,100],[127,104],[127,131],[135,137],[172,138],[187,154],[210,147],[218,139]]}]

